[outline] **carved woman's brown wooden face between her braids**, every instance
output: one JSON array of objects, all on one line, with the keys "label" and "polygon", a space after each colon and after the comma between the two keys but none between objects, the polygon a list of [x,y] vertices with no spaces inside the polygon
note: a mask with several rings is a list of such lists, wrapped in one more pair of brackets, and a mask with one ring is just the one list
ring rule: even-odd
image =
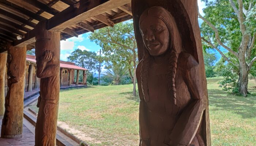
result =
[{"label": "carved woman's brown wooden face between her braids", "polygon": [[163,20],[147,16],[140,24],[143,42],[151,56],[165,53],[169,47],[169,30]]}]

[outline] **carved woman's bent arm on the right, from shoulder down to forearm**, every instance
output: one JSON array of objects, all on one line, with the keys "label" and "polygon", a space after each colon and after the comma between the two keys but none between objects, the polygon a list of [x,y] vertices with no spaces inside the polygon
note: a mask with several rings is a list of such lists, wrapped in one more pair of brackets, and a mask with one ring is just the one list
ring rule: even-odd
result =
[{"label": "carved woman's bent arm on the right, from shoulder down to forearm", "polygon": [[197,85],[191,77],[191,69],[197,66],[196,60],[189,54],[181,54],[181,70],[184,81],[187,84],[191,98],[191,103],[182,111],[172,134],[170,135],[171,143],[174,146],[188,146],[196,135],[203,117],[202,97],[199,95]]}]

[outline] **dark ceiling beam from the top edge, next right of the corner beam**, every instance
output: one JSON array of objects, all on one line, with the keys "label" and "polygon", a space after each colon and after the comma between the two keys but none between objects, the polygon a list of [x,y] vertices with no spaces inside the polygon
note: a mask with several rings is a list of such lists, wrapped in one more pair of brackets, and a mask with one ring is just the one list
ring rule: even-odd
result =
[{"label": "dark ceiling beam from the top edge, next right of the corner beam", "polygon": [[23,0],[26,1],[26,3],[29,3],[31,5],[33,5],[34,7],[37,7],[39,9],[41,9],[42,11],[48,12],[52,15],[56,15],[59,13],[59,11],[57,11],[56,9],[49,7],[48,5],[41,3],[40,1],[37,0]]}]

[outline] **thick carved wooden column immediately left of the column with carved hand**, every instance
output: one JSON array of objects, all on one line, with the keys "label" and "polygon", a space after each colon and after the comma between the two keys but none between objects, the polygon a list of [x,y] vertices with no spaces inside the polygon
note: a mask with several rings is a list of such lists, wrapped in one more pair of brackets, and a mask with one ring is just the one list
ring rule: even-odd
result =
[{"label": "thick carved wooden column immediately left of the column with carved hand", "polygon": [[22,137],[23,128],[26,46],[10,46],[7,53],[8,91],[5,97],[1,138],[19,138]]}]

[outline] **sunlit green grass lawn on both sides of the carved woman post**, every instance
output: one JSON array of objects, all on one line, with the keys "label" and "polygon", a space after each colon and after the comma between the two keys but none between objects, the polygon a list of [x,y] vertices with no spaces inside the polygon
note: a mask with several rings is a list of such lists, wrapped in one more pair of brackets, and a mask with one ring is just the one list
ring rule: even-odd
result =
[{"label": "sunlit green grass lawn on both sides of the carved woman post", "polygon": [[[252,95],[245,98],[222,91],[220,80],[207,79],[212,146],[256,145],[256,81],[249,81]],[[58,120],[84,133],[91,146],[137,146],[138,112],[132,84],[60,92]]]}]

